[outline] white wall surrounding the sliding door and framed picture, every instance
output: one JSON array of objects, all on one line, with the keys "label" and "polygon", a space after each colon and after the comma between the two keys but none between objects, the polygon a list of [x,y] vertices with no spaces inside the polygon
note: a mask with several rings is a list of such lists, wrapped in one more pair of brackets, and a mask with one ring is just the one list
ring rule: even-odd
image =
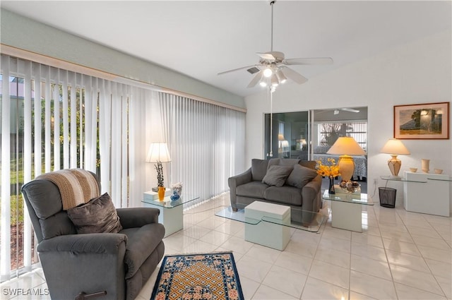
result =
[{"label": "white wall surrounding the sliding door and framed picture", "polygon": [[[309,78],[303,85],[280,86],[273,94],[273,112],[367,106],[368,193],[372,195],[374,179],[379,180],[379,186],[384,186],[386,181],[380,176],[390,174],[386,164],[390,157],[379,150],[393,137],[393,106],[451,101],[451,34],[448,30],[388,49],[369,59]],[[270,107],[266,92],[246,97],[245,103],[246,162],[251,164],[251,158],[263,157],[263,114],[268,113]],[[451,139],[403,140],[403,143],[411,155],[399,156],[401,174],[409,167],[420,169],[422,158],[431,160],[431,169],[439,167],[445,174],[452,174]],[[402,184],[391,181],[388,186],[398,188],[396,205],[401,205]]]}]

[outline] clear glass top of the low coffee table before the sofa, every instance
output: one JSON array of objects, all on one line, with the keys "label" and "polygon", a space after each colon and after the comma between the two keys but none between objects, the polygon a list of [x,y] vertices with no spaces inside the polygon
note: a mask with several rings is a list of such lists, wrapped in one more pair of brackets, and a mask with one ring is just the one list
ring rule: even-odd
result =
[{"label": "clear glass top of the low coffee table before the sofa", "polygon": [[[308,232],[319,232],[323,221],[326,216],[321,212],[308,212],[306,210],[297,210],[296,208],[290,208],[290,214],[295,216],[296,220],[291,220],[290,224],[284,224],[283,220],[275,219],[272,217],[261,217],[261,219],[252,219],[245,217],[244,209],[239,209],[237,212],[232,211],[232,208],[228,206],[219,212],[216,212],[217,217],[225,217],[230,220],[257,225],[261,222],[266,222],[270,224],[279,224],[285,227],[291,227],[295,229],[301,229]],[[303,222],[303,220],[309,220],[310,222]]]}]

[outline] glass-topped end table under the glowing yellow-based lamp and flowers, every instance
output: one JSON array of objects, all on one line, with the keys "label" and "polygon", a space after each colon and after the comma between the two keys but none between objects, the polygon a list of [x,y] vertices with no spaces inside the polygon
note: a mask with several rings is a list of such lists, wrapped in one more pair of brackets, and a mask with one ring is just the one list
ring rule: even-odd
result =
[{"label": "glass-topped end table under the glowing yellow-based lamp and flowers", "polygon": [[331,200],[331,226],[362,232],[362,205],[374,205],[367,193],[330,194],[326,190],[322,198]]}]

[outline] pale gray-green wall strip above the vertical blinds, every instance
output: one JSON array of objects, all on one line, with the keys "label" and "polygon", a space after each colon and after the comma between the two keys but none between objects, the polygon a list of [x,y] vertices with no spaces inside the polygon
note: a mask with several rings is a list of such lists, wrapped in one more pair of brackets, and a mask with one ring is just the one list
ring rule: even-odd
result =
[{"label": "pale gray-green wall strip above the vertical blinds", "polygon": [[149,61],[90,42],[3,8],[0,21],[0,42],[2,44],[125,78],[140,80],[162,88],[230,104],[234,107],[244,107],[243,98],[231,92],[215,88],[213,85],[157,66]]}]

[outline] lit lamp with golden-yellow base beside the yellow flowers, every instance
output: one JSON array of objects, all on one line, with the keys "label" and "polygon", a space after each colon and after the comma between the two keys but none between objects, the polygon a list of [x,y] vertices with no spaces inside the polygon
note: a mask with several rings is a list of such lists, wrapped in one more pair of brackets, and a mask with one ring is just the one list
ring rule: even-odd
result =
[{"label": "lit lamp with golden-yellow base beside the yellow flowers", "polygon": [[355,172],[355,162],[351,155],[365,155],[366,152],[358,145],[355,138],[341,136],[326,154],[340,155],[338,161],[340,176],[342,180],[349,181]]}]

